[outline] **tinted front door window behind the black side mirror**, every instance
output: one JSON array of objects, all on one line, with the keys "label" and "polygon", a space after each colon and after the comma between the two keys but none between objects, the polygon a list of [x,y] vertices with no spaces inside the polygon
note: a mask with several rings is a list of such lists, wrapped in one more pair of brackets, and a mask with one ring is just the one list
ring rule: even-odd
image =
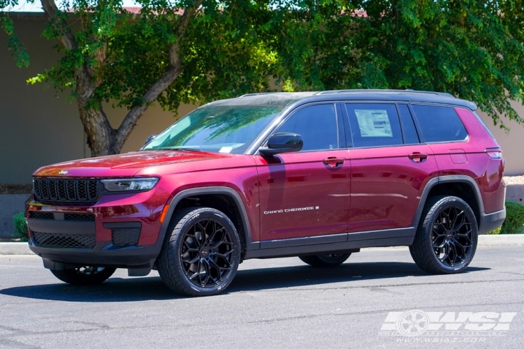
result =
[{"label": "tinted front door window behind the black side mirror", "polygon": [[334,104],[304,107],[287,119],[277,131],[298,133],[303,151],[338,148],[337,114]]}]

